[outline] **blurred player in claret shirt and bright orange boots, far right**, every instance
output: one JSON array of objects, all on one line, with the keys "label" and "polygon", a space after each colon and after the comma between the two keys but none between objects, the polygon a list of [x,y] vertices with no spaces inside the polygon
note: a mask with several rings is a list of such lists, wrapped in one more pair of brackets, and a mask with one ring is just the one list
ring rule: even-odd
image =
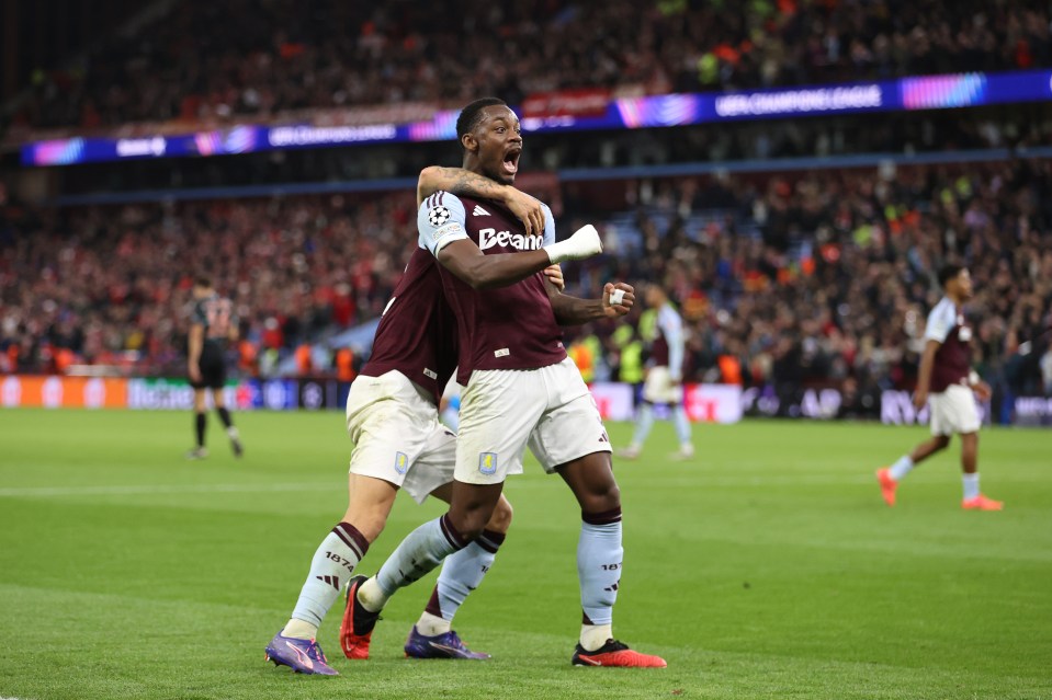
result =
[{"label": "blurred player in claret shirt and bright orange boots, far right", "polygon": [[960,265],[946,265],[939,271],[939,285],[946,296],[931,309],[925,326],[924,355],[917,376],[914,406],[930,408],[931,439],[903,455],[894,464],[880,469],[876,478],[887,505],[895,505],[898,482],[914,467],[931,455],[946,449],[950,437],[961,436],[961,468],[968,510],[1000,510],[1004,504],[982,494],[979,489],[979,412],[973,392],[983,401],[991,397],[989,385],[971,368],[972,328],[964,318],[964,302],[972,298],[972,277]]}]

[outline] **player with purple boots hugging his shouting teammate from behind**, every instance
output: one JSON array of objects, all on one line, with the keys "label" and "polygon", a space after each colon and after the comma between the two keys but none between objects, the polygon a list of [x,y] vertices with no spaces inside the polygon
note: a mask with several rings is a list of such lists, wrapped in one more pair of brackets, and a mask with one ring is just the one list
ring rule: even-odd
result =
[{"label": "player with purple boots hugging his shouting teammate from behind", "polygon": [[[483,192],[500,197],[518,211],[525,227],[543,227],[543,210],[532,197],[512,187],[495,191],[478,175],[451,169],[421,173],[418,196],[439,186],[462,193]],[[587,238],[587,237],[586,237]],[[578,243],[581,239],[578,239]],[[596,236],[578,252],[598,252]],[[562,286],[558,267],[545,251],[488,256],[473,268],[478,286],[507,285],[544,271]],[[547,269],[545,269],[547,268]],[[347,428],[355,444],[348,479],[348,508],[323,540],[310,563],[289,622],[267,646],[275,664],[307,674],[335,675],[316,636],[329,608],[347,587],[353,600],[364,576],[353,577],[358,562],[383,530],[397,491],[418,502],[428,495],[451,498],[455,436],[438,420],[442,389],[456,366],[456,320],[442,296],[442,282],[431,253],[419,245],[387,303],[372,355],[351,385]],[[493,565],[511,521],[511,506],[501,497],[479,538],[443,566],[427,609],[414,626],[405,651],[426,658],[487,658],[472,652],[452,630],[453,615]],[[369,657],[375,616],[355,616],[348,606],[340,643],[349,658]]]}]

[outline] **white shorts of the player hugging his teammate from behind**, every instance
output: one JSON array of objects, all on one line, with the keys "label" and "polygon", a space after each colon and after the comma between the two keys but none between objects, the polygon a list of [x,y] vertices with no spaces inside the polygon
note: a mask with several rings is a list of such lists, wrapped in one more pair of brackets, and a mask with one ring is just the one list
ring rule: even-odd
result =
[{"label": "white shorts of the player hugging his teammate from behind", "polygon": [[427,391],[399,371],[360,375],[347,397],[351,473],[405,489],[417,503],[453,481],[456,435],[439,423]]}]

